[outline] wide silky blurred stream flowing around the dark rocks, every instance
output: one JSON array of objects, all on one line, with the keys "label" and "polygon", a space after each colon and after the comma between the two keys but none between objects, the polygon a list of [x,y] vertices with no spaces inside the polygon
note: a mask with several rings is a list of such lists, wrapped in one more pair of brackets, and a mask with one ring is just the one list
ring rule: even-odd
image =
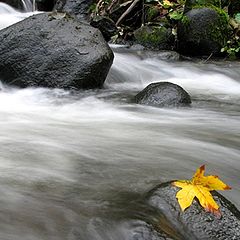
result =
[{"label": "wide silky blurred stream flowing around the dark rocks", "polygon": [[[240,208],[239,62],[167,62],[112,47],[104,89],[2,85],[1,240],[133,239],[126,223],[144,215],[142,195],[203,164]],[[131,103],[154,81],[181,85],[192,107]]]}]

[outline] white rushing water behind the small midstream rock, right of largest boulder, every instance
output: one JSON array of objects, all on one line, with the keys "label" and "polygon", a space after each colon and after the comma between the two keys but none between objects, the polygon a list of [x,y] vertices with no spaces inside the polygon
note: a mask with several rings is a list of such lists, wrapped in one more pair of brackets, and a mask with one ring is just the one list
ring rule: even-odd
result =
[{"label": "white rushing water behind the small midstream rock, right of largest boulder", "polygon": [[141,90],[152,82],[168,81],[179,84],[192,94],[240,96],[239,79],[208,69],[207,64],[171,63],[115,53],[109,78],[113,81],[108,79],[107,83],[116,89]]}]

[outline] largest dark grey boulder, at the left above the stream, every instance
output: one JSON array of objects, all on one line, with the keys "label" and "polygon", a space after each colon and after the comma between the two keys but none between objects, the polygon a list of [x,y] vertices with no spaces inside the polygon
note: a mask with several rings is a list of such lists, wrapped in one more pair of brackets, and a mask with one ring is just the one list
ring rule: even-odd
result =
[{"label": "largest dark grey boulder, at the left above the stream", "polygon": [[0,78],[19,87],[102,87],[113,53],[99,30],[42,13],[0,31]]}]

